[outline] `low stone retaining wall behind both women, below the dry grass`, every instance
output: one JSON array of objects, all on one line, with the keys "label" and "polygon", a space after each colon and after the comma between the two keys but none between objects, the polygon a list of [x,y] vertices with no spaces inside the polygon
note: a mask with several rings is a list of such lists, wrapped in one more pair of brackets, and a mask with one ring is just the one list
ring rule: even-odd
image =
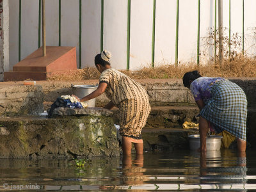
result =
[{"label": "low stone retaining wall behind both women, below the dry grass", "polygon": [[[152,106],[195,106],[195,101],[188,88],[185,88],[182,79],[136,79],[147,90]],[[256,107],[256,79],[255,78],[230,78],[243,88],[248,99],[249,107]],[[98,80],[77,81],[72,84],[97,84]],[[70,82],[42,81],[38,82],[43,87],[44,101],[54,102],[60,95],[72,94]],[[109,101],[106,96],[100,95],[96,99],[97,106],[104,106]]]}]

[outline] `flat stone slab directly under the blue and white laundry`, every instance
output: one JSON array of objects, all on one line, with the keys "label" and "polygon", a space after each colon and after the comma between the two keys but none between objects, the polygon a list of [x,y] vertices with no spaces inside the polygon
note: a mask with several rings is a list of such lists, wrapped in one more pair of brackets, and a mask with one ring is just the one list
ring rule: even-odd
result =
[{"label": "flat stone slab directly under the blue and white laundry", "polygon": [[103,108],[56,108],[53,115],[58,116],[112,116],[113,111]]}]

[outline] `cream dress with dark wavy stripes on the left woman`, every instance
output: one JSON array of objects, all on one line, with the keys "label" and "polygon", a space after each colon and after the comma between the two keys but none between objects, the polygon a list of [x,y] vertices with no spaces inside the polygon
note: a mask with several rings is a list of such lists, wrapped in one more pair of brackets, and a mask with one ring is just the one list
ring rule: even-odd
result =
[{"label": "cream dress with dark wavy stripes on the left woman", "polygon": [[151,110],[146,90],[114,68],[104,70],[99,83],[108,84],[105,94],[120,109],[120,134],[141,140],[141,129]]}]

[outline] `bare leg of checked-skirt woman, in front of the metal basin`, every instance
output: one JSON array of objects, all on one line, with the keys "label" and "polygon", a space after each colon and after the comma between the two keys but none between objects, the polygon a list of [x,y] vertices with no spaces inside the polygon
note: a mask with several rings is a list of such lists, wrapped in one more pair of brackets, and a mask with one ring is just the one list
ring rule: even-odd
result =
[{"label": "bare leg of checked-skirt woman, in front of the metal basin", "polygon": [[200,116],[199,118],[199,134],[200,134],[200,151],[206,151],[206,138],[208,132],[208,121]]}]

